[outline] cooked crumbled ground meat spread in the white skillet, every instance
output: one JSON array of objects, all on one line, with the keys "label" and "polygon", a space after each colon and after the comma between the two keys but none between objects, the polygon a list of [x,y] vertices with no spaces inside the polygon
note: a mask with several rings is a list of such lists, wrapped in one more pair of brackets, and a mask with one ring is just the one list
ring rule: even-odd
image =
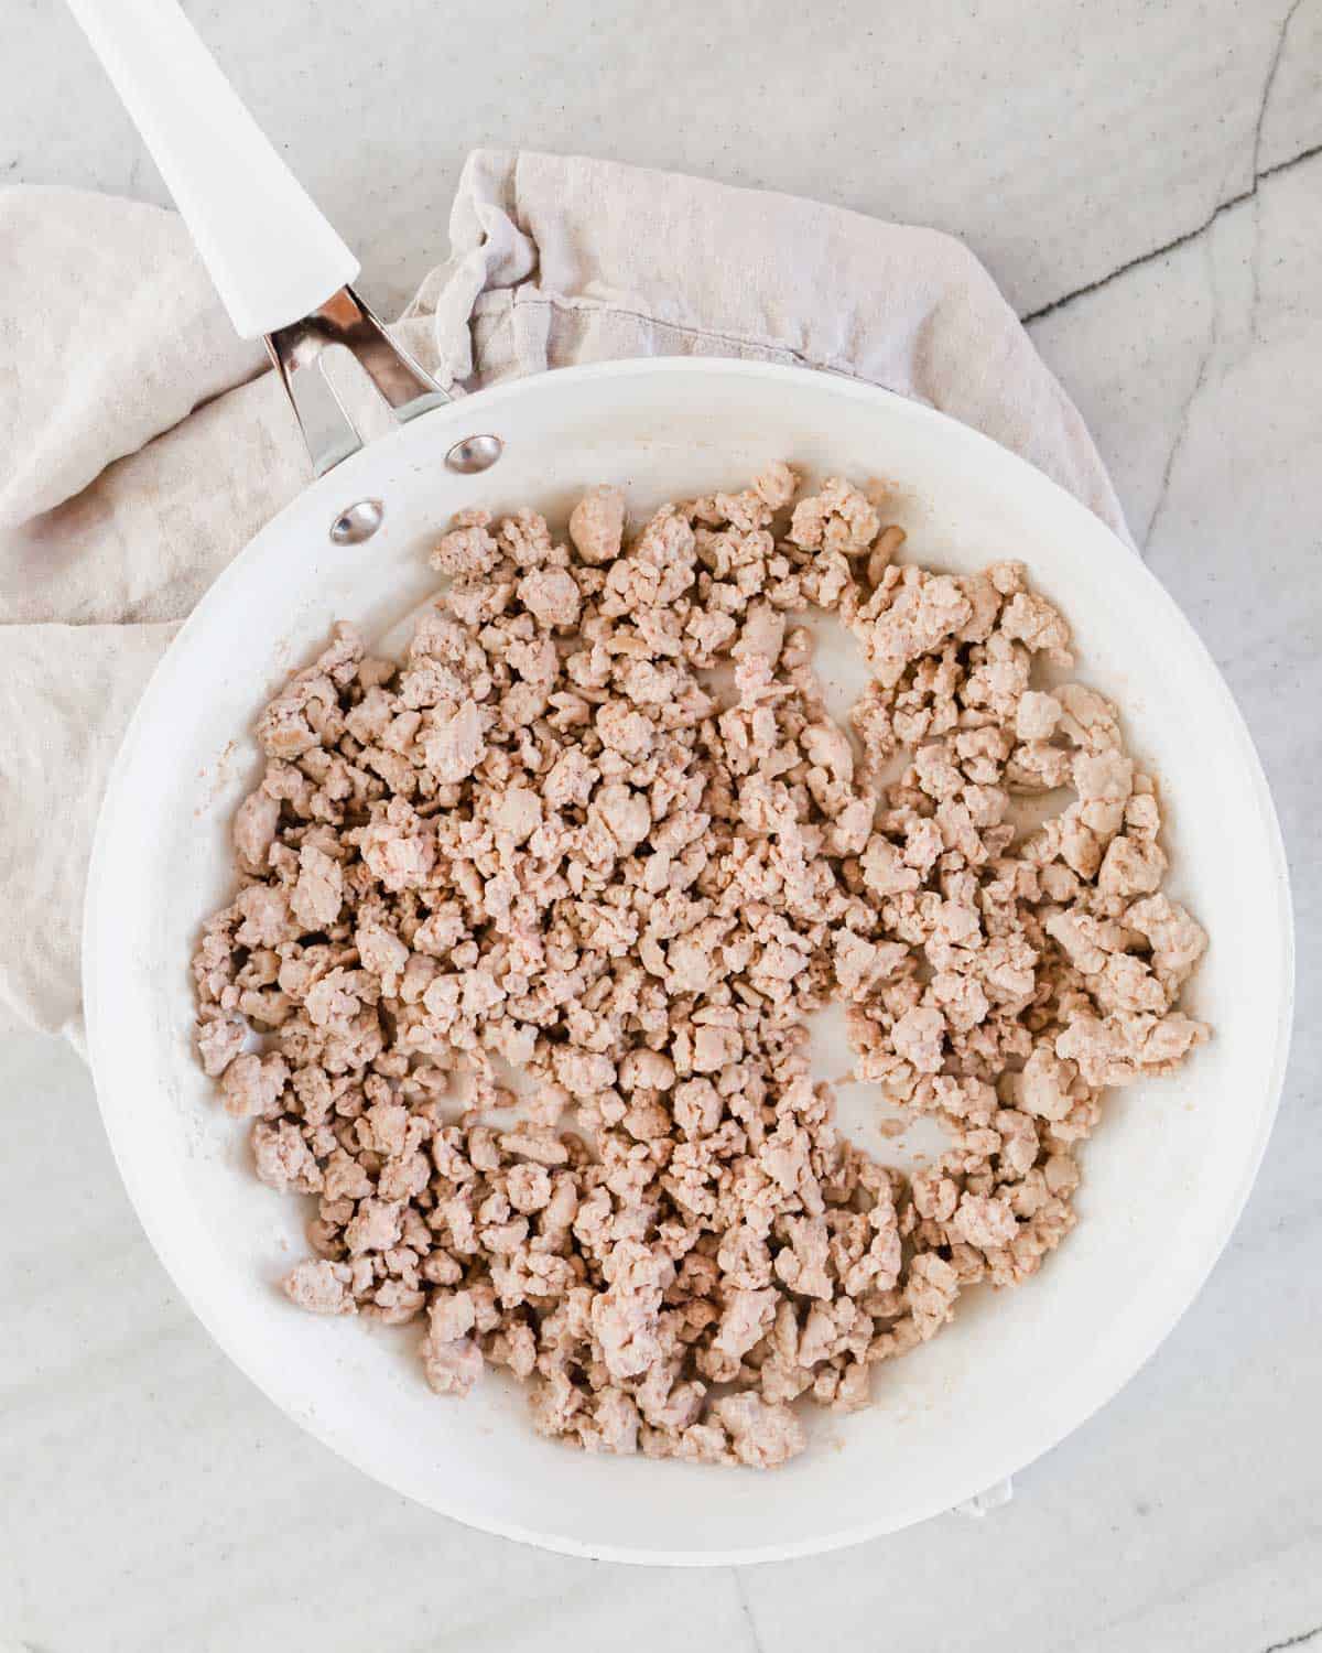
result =
[{"label": "cooked crumbled ground meat spread in the white skillet", "polygon": [[[866,1405],[960,1291],[1036,1271],[1104,1088],[1206,1036],[1153,784],[1102,696],[1033,686],[1061,615],[795,491],[777,464],[631,541],[608,488],[568,544],[459,516],[403,665],[337,626],[261,717],[193,965],[258,1175],[317,1197],[289,1298],[420,1317],[435,1390],[506,1365],[590,1451],[800,1451],[800,1395]],[[854,741],[808,607],[866,651]],[[856,1076],[947,1129],[912,1177],[811,1079],[831,998]]]}]

